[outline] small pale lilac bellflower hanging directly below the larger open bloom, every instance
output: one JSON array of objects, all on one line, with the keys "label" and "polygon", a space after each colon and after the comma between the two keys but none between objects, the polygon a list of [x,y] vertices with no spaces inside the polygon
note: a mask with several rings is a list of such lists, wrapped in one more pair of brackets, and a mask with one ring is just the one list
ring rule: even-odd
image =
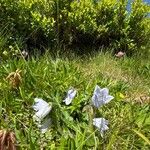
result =
[{"label": "small pale lilac bellflower hanging directly below the larger open bloom", "polygon": [[94,118],[93,125],[98,128],[101,136],[104,136],[104,131],[108,130],[108,121],[104,118]]}]

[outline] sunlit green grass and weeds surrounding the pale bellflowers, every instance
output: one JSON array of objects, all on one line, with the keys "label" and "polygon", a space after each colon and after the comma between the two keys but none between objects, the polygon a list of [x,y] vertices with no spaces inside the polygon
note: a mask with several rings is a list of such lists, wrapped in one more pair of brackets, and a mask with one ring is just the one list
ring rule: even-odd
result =
[{"label": "sunlit green grass and weeds surrounding the pale bellflowers", "polygon": [[[22,70],[22,83],[12,89],[6,77],[16,69]],[[82,59],[45,55],[1,62],[0,127],[15,132],[20,149],[148,150],[149,71],[148,59],[116,59],[108,53]],[[92,112],[87,107],[96,84],[108,87],[115,97],[96,111],[95,117],[109,120],[104,138],[91,126]],[[78,93],[71,105],[65,106],[62,100],[70,87]],[[143,95],[147,99],[142,101]],[[45,134],[33,121],[35,97],[53,104],[52,126]]]}]

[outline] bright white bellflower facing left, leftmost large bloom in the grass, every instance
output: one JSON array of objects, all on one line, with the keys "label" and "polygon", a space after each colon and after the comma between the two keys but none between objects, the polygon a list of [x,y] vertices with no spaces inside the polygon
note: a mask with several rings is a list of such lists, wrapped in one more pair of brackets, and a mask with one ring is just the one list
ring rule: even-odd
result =
[{"label": "bright white bellflower facing left, leftmost large bloom in the grass", "polygon": [[36,121],[41,121],[44,117],[46,117],[49,114],[49,112],[52,109],[52,106],[50,106],[41,98],[35,98],[34,101],[35,104],[32,107],[36,111],[36,113],[33,117]]}]

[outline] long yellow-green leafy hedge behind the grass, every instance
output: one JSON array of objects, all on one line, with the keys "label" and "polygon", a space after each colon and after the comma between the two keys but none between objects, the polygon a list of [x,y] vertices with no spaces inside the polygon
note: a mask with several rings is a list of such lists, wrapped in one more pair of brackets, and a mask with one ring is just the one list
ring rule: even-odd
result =
[{"label": "long yellow-green leafy hedge behind the grass", "polygon": [[134,52],[150,37],[148,5],[115,0],[1,0],[1,24],[28,48],[94,45]]}]

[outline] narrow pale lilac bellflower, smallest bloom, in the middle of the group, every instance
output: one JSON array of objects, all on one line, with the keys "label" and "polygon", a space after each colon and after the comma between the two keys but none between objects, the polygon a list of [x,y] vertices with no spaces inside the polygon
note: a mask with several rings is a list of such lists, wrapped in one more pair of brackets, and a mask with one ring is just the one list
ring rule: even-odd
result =
[{"label": "narrow pale lilac bellflower, smallest bloom, in the middle of the group", "polygon": [[72,100],[74,99],[74,97],[76,96],[77,94],[77,91],[75,89],[70,89],[68,92],[67,92],[67,96],[65,98],[65,100],[63,100],[63,102],[65,102],[66,105],[69,105],[71,104]]}]

